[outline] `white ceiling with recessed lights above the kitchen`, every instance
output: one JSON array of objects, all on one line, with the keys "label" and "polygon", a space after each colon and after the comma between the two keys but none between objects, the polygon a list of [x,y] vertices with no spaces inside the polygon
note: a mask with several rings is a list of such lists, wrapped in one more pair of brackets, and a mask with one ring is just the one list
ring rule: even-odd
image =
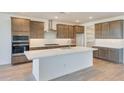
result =
[{"label": "white ceiling with recessed lights above the kitchen", "polygon": [[[14,14],[20,16],[53,19],[62,22],[76,23],[86,23],[90,21],[101,20],[105,18],[115,17],[124,15],[124,12],[6,12],[7,14]],[[58,19],[54,17],[57,16]],[[93,19],[89,19],[92,16]]]}]

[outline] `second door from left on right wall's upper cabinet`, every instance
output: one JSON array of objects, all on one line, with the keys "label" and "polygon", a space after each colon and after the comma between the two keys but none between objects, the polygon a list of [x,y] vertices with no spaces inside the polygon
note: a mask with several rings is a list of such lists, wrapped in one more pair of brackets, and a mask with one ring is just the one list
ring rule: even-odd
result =
[{"label": "second door from left on right wall's upper cabinet", "polygon": [[102,23],[102,38],[103,39],[108,39],[109,38],[109,22]]}]

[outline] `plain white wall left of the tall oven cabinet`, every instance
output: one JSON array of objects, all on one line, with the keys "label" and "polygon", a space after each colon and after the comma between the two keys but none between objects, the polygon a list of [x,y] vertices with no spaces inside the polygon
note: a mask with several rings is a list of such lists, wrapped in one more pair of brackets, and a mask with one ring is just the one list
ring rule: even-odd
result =
[{"label": "plain white wall left of the tall oven cabinet", "polygon": [[0,65],[11,63],[11,21],[0,14]]}]

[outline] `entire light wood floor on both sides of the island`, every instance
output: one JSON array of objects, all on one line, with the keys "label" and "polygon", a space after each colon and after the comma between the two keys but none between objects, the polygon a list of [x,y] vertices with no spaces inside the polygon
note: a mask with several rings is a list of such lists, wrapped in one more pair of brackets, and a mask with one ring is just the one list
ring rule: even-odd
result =
[{"label": "entire light wood floor on both sides of the island", "polygon": [[[32,63],[0,67],[0,80],[34,80]],[[124,65],[94,59],[94,66],[56,79],[55,81],[103,81],[124,80]]]}]

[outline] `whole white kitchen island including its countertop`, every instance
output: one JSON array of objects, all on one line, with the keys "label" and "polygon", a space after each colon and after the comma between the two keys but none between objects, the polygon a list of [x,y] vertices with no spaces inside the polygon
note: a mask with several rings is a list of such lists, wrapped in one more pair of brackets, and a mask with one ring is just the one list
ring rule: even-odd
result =
[{"label": "whole white kitchen island including its countertop", "polygon": [[93,48],[71,47],[25,51],[36,80],[51,80],[93,65]]}]

